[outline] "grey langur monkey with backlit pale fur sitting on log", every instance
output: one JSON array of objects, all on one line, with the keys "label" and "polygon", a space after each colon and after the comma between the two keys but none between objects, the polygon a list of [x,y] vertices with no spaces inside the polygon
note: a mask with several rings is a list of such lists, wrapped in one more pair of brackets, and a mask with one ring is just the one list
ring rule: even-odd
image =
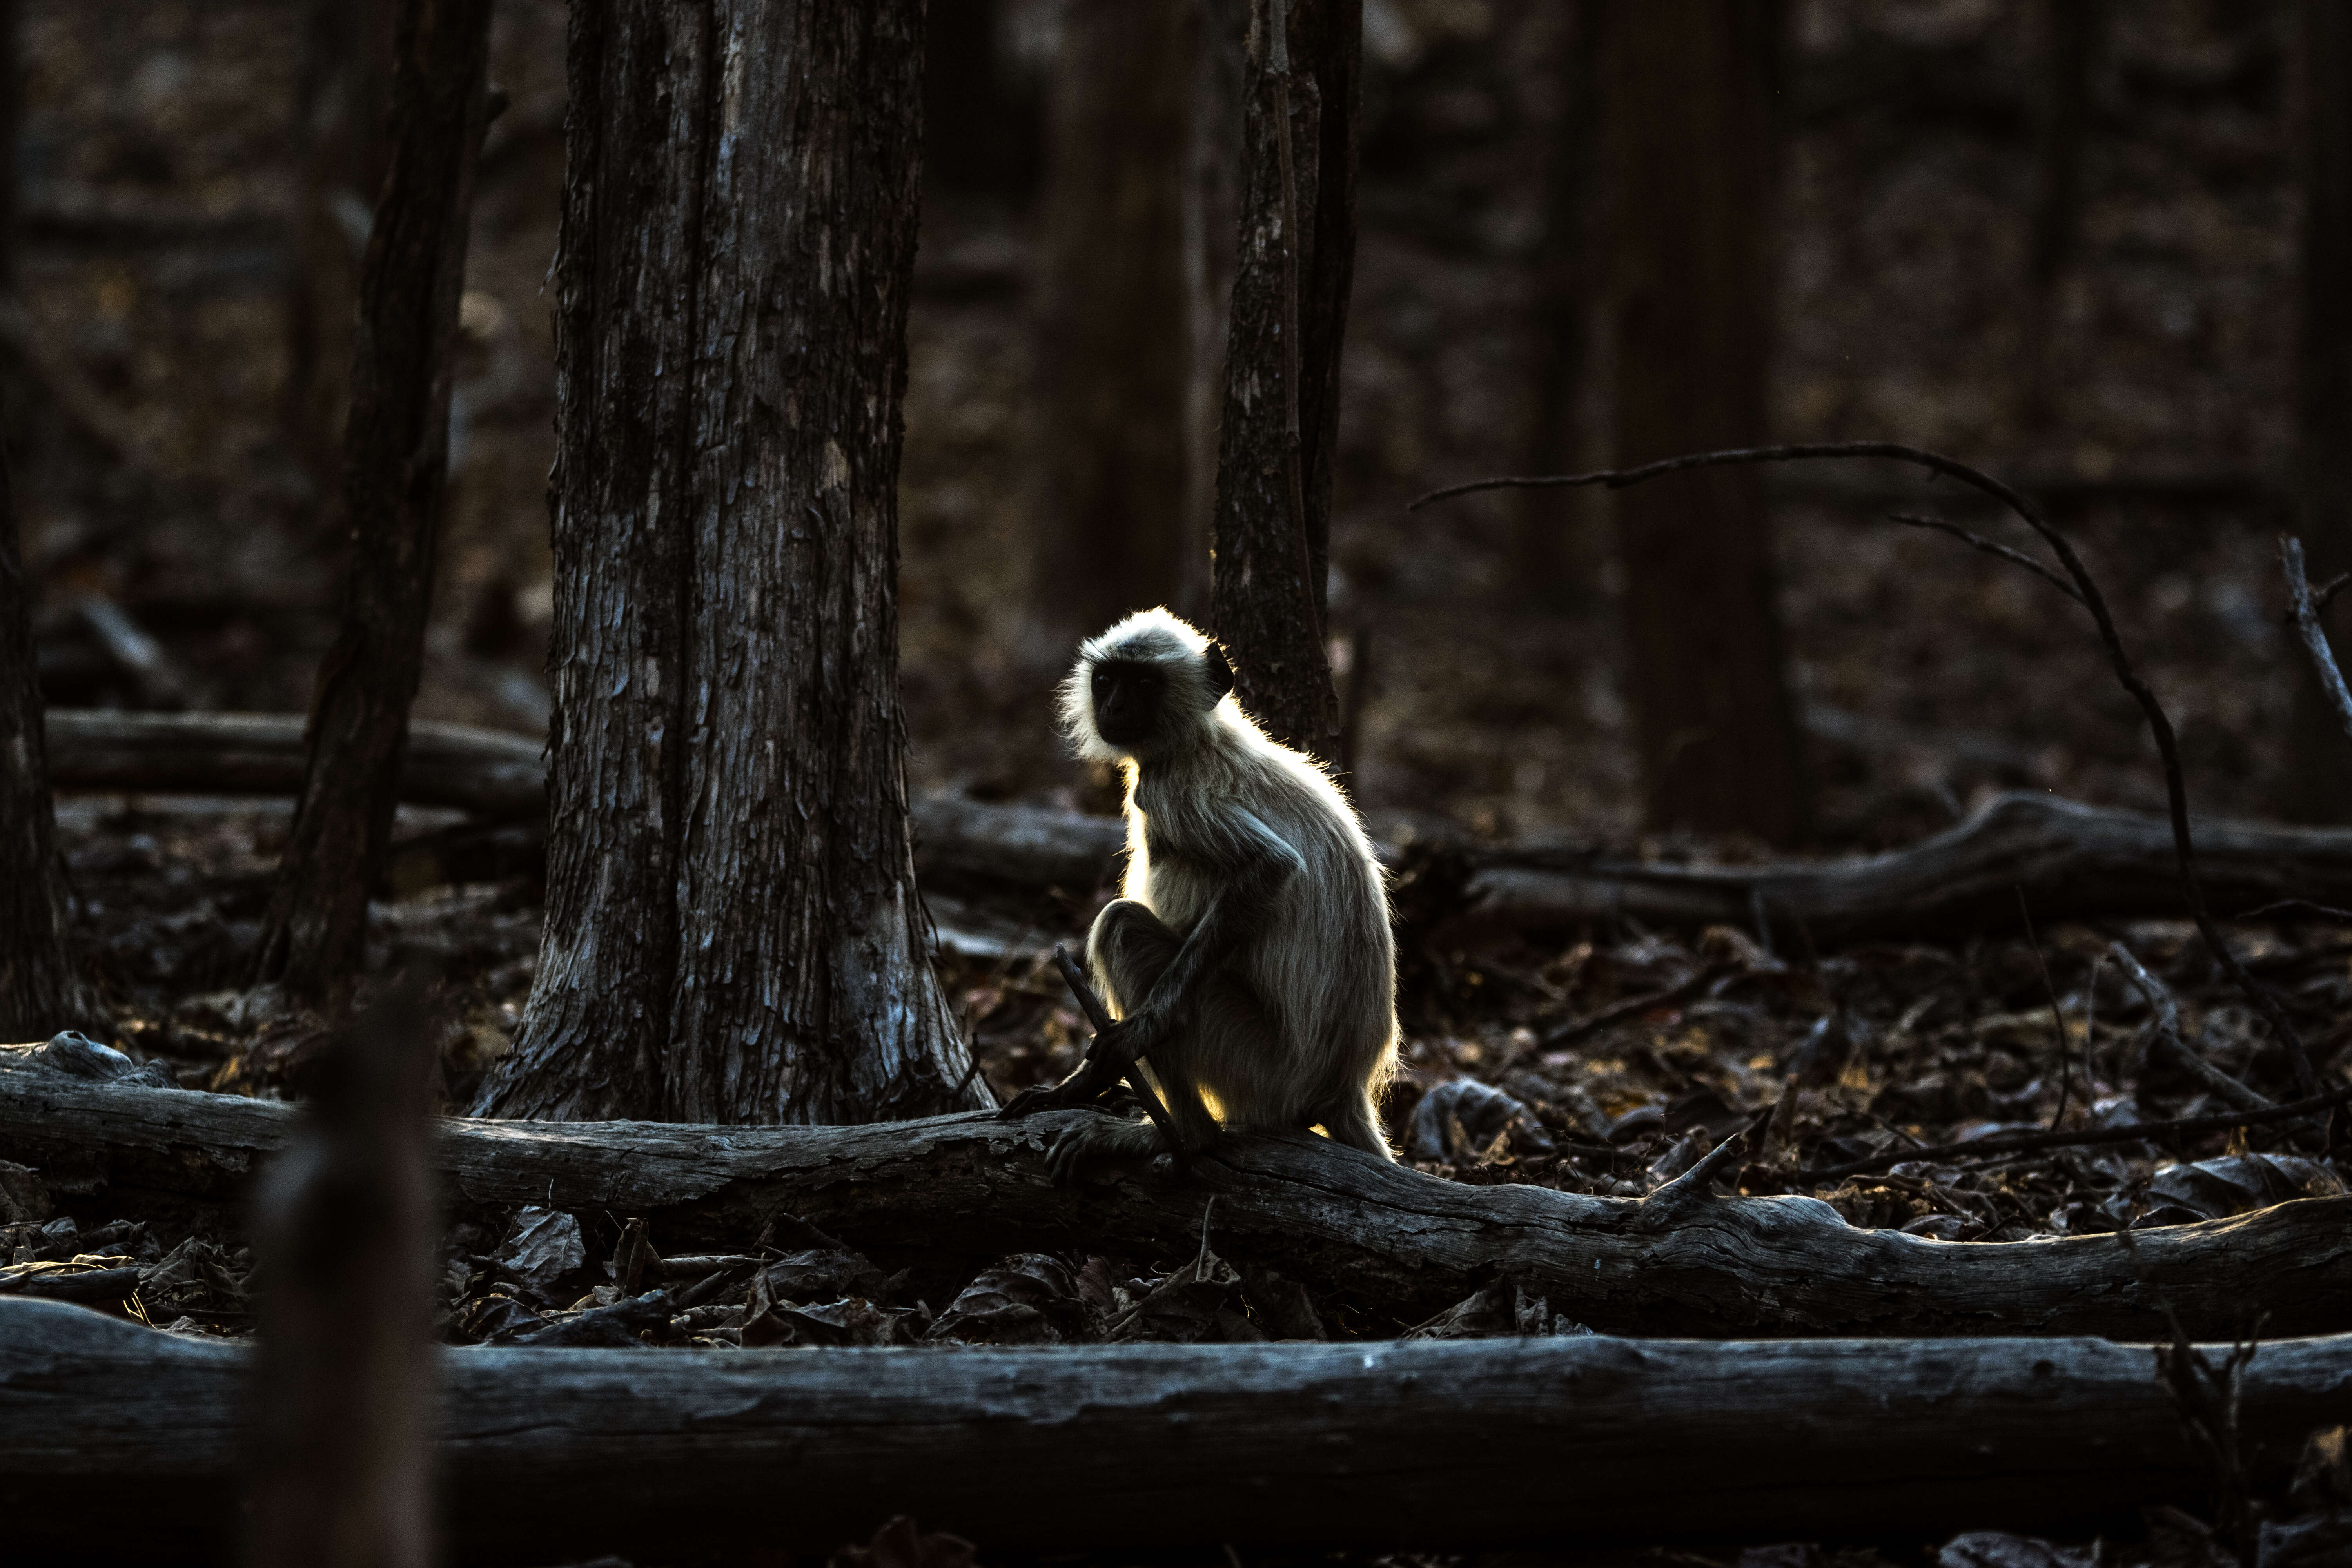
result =
[{"label": "grey langur monkey with backlit pale fur sitting on log", "polygon": [[[1117,1018],[1103,1044],[1143,1060],[1185,1147],[1167,1150],[1150,1121],[1091,1117],[1054,1143],[1054,1178],[1190,1154],[1218,1121],[1322,1126],[1395,1159],[1376,1103],[1397,1072],[1397,950],[1348,799],[1242,712],[1223,649],[1164,609],[1080,646],[1061,719],[1082,757],[1127,776],[1124,898],[1087,933]],[[1082,1105],[1115,1079],[1089,1058],[1025,1107]]]}]

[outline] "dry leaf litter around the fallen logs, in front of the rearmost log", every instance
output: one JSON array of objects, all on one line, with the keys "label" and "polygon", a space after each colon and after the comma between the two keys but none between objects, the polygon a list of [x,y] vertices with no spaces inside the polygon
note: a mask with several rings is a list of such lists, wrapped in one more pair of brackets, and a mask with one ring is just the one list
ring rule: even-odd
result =
[{"label": "dry leaf litter around the fallen logs, in front of the rearmost log", "polygon": [[[412,830],[437,820],[423,811],[405,816]],[[61,813],[80,891],[78,940],[106,980],[115,1039],[132,1056],[167,1065],[188,1088],[299,1093],[306,1067],[327,1046],[325,1034],[273,1018],[266,997],[242,985],[285,825],[282,806],[174,797],[85,797]],[[1000,1095],[1077,1065],[1084,1025],[1042,945],[1073,940],[1073,914],[1087,903],[993,910],[1000,926],[1028,926],[1014,952],[938,954],[981,1070]],[[2324,1081],[2343,1081],[2352,1046],[2352,922],[2237,926],[2232,940],[2286,1001]],[[461,1105],[485,1063],[508,1046],[529,994],[536,886],[513,879],[383,900],[374,907],[374,943],[381,966],[423,959],[437,969],[437,1091],[445,1105]],[[1875,1175],[1792,1178],[1802,1168],[1999,1131],[2119,1128],[2227,1110],[2152,1051],[2157,1013],[2110,945],[2171,990],[2183,1037],[2209,1063],[2272,1100],[2293,1098],[2284,1056],[2183,922],[2065,924],[2034,938],[1820,954],[1804,950],[1802,938],[1795,952],[1785,943],[1769,950],[1757,933],[1724,926],[1696,936],[1628,926],[1562,945],[1498,938],[1444,952],[1409,950],[1399,997],[1404,1070],[1388,1100],[1388,1131],[1406,1161],[1449,1180],[1639,1197],[1773,1112],[1766,1140],[1750,1145],[1757,1157],[1740,1173],[1743,1190],[1811,1192],[1858,1227],[1898,1227],[1955,1246],[2178,1225],[2345,1192],[2352,1143],[2343,1117],[2326,1140],[2310,1128],[2296,1135],[2267,1128],[1990,1159],[1936,1154]],[[1642,999],[1656,1001],[1642,1006]],[[1578,1027],[1604,1011],[1611,1023]],[[1564,1030],[1578,1030],[1573,1041],[1545,1048],[1545,1037]],[[240,1220],[129,1220],[108,1208],[103,1192],[61,1192],[54,1201],[56,1213],[45,1220],[0,1227],[0,1255],[16,1265],[129,1258],[148,1269],[136,1309],[155,1326],[249,1333],[252,1253]],[[637,1246],[628,1241],[628,1218],[536,1206],[449,1215],[437,1333],[452,1345],[513,1342],[619,1300]],[[652,1244],[659,1255],[659,1227]],[[647,1342],[1270,1338],[1240,1279],[1221,1295],[1207,1293],[1216,1300],[1185,1286],[1171,1293],[1181,1312],[1162,1300],[1160,1309],[1136,1314],[1138,1302],[1195,1262],[1190,1251],[1124,1255],[1080,1246],[974,1258],[969,1279],[936,1300],[917,1300],[903,1274],[887,1276],[844,1248],[795,1251],[771,1234],[743,1234],[724,1258],[746,1260],[741,1274],[713,1276],[720,1288]],[[767,1262],[757,1276],[748,1272],[753,1258]],[[715,1258],[710,1267],[739,1265]],[[1517,1331],[1510,1312],[1482,1298],[1423,1321],[1319,1293],[1310,1300],[1331,1338]],[[2244,1333],[2260,1335],[2256,1300],[2246,1302]],[[2084,1568],[2204,1561],[2190,1552],[2197,1540],[2187,1516],[2166,1516],[2150,1521],[2140,1540],[2079,1547],[2086,1554],[2079,1561]],[[1748,1552],[1740,1563],[1860,1568],[1936,1552],[1936,1542],[1832,1540],[1830,1547],[1773,1544],[1778,1556]],[[1964,1537],[1957,1547],[2020,1568],[2046,1563],[2020,1537]],[[1952,1559],[1943,1561],[1950,1568]]]}]

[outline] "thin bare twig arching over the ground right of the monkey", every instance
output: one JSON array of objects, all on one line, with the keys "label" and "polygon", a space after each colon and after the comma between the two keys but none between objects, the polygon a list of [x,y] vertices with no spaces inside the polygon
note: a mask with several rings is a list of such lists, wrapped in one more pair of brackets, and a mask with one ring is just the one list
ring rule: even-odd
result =
[{"label": "thin bare twig arching over the ground right of the monkey", "polygon": [[1731,463],[1797,463],[1809,458],[1896,458],[1900,463],[1917,463],[1929,473],[1959,480],[1962,484],[1992,496],[2042,536],[2042,541],[2058,557],[2058,564],[2065,567],[2074,590],[2082,595],[2082,607],[2091,611],[2091,621],[2098,625],[2098,639],[2107,646],[2107,663],[2114,668],[2114,679],[2122,682],[2124,691],[2131,693],[2131,701],[2140,705],[2140,712],[2147,719],[2147,733],[2154,738],[2157,755],[2164,759],[2164,799],[2173,823],[2173,856],[2180,863],[2180,891],[2187,898],[2190,919],[2197,922],[2197,933],[2204,936],[2230,980],[2246,992],[2246,999],[2253,1001],[2256,1011],[2260,1011],[2272,1032],[2277,1032],[2279,1044],[2286,1048],[2286,1060],[2296,1070],[2296,1086],[2303,1088],[2305,1095],[2317,1091],[2319,1074],[2312,1072],[2312,1058],[2303,1048],[2303,1034],[2296,1032],[2296,1023],[2286,1016],[2286,1006],[2281,1006],[2279,999],[2270,994],[2270,987],[2256,980],[2239,957],[2230,952],[2230,945],[2220,936],[2220,926],[2213,924],[2213,910],[2206,907],[2204,882],[2197,877],[2197,846],[2190,839],[2187,780],[2180,771],[2180,743],[2173,736],[2171,715],[2164,712],[2164,703],[2157,701],[2154,689],[2140,677],[2131,656],[2124,651],[2124,635],[2114,628],[2114,616],[2107,611],[2107,597],[2098,590],[2098,581],[2091,576],[2091,569],[2082,564],[2082,555],[2074,552],[2072,541],[2067,541],[2067,536],[2042,515],[2042,508],[2020,491],[2002,484],[1983,470],[1969,468],[1959,458],[1947,458],[1940,451],[1926,451],[1924,447],[1905,447],[1900,442],[1802,442],[1790,447],[1691,451],[1679,458],[1663,458],[1639,468],[1602,468],[1581,475],[1470,480],[1465,484],[1432,489],[1406,510],[1418,510],[1432,501],[1468,496],[1482,489],[1550,489],[1562,484],[1604,484],[1609,489],[1625,489],[1628,484],[1661,480],[1670,473],[1684,473],[1691,468],[1722,468]]}]

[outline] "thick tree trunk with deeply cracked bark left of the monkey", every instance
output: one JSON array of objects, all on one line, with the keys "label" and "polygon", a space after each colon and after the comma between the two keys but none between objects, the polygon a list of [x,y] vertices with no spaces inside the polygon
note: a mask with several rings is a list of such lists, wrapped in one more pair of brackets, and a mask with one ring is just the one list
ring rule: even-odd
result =
[{"label": "thick tree trunk with deeply cracked bark left of the monkey", "polygon": [[548,917],[480,1110],[978,1105],[898,715],[922,2],[583,5],[569,78]]}]

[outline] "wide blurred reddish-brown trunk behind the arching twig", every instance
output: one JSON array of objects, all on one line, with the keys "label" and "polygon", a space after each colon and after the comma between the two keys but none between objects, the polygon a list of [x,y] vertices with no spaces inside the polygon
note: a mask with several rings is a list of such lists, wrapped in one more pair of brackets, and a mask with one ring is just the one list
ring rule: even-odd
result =
[{"label": "wide blurred reddish-brown trunk behind the arching twig", "polygon": [[[1769,0],[1604,7],[1616,465],[1766,437]],[[1790,844],[1806,788],[1757,468],[1616,496],[1649,820]]]}]

